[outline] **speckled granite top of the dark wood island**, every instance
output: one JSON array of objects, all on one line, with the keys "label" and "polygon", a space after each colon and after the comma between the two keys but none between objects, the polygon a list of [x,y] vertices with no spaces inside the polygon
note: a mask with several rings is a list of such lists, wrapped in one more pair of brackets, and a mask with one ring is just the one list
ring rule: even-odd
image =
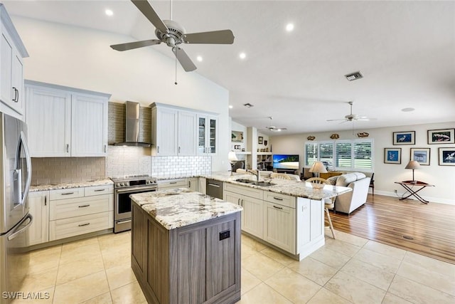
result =
[{"label": "speckled granite top of the dark wood island", "polygon": [[130,197],[168,230],[242,211],[242,206],[186,188],[144,192]]}]

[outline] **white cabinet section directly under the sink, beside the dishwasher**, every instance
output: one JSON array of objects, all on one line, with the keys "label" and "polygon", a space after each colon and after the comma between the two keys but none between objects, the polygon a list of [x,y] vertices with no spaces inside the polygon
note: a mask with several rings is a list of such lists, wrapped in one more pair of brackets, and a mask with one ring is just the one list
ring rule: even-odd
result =
[{"label": "white cabinet section directly under the sink, beside the dishwasher", "polygon": [[264,201],[262,197],[262,190],[224,184],[224,200],[243,207],[242,231],[257,236],[259,239],[263,239],[264,236]]}]

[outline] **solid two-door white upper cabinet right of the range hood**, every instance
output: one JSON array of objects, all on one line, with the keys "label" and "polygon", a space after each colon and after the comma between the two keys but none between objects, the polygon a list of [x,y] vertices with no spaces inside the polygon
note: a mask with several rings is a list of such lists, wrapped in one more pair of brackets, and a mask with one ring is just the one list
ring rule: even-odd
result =
[{"label": "solid two-door white upper cabinet right of the range hood", "polygon": [[198,115],[200,112],[196,110],[161,103],[151,104],[153,154],[157,156],[198,154]]}]

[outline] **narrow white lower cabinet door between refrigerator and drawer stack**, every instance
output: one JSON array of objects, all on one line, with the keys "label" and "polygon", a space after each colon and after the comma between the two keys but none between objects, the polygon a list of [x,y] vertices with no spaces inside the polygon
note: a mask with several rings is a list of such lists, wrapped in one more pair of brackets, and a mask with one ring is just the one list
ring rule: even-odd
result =
[{"label": "narrow white lower cabinet door between refrigerator and drawer stack", "polygon": [[49,241],[49,192],[30,192],[28,208],[33,221],[30,228],[26,230],[27,246]]}]

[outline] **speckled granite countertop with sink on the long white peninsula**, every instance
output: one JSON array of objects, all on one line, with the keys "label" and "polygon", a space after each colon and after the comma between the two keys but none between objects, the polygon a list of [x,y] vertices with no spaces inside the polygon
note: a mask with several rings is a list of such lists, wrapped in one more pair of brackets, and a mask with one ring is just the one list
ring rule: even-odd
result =
[{"label": "speckled granite countertop with sink on the long white peninsula", "polygon": [[287,179],[270,179],[267,177],[261,177],[261,181],[271,181],[273,186],[257,186],[255,184],[247,184],[242,182],[235,182],[236,179],[251,179],[256,181],[256,176],[252,174],[234,174],[230,175],[230,172],[213,172],[211,175],[205,176],[208,179],[216,179],[221,182],[228,182],[230,184],[237,184],[243,187],[250,187],[255,189],[261,189],[264,191],[287,194],[296,197],[304,197],[307,199],[328,199],[339,194],[350,192],[353,189],[349,187],[339,187],[326,185],[321,190],[316,190],[311,187],[311,184],[301,181],[292,181]]}]

